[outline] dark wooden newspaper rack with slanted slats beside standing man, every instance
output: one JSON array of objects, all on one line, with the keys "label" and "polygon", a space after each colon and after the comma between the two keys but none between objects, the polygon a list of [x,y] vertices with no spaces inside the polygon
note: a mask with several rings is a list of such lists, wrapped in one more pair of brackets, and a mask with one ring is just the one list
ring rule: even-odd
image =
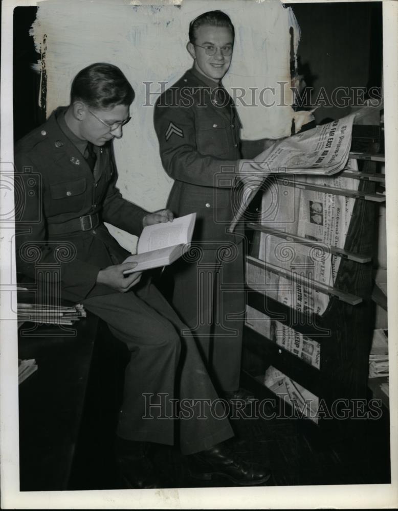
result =
[{"label": "dark wooden newspaper rack with slanted slats beside standing man", "polygon": [[[356,156],[350,153],[351,158]],[[316,397],[328,411],[342,400],[351,404],[357,399],[367,398],[368,359],[372,335],[372,308],[374,307],[371,298],[371,257],[374,255],[373,243],[378,203],[385,200],[385,197],[376,194],[375,190],[384,181],[384,176],[377,174],[378,166],[383,160],[384,158],[379,155],[375,157],[361,155],[357,161],[360,175],[352,176],[349,169],[344,169],[343,173],[348,172],[344,177],[356,179],[358,191],[339,190],[327,186],[316,187],[316,193],[320,195],[332,194],[328,197],[333,197],[333,194],[342,194],[350,197],[344,200],[353,201],[352,216],[346,226],[346,237],[344,243],[338,247],[331,246],[329,243],[320,243],[311,237],[306,238],[300,233],[290,234],[289,225],[284,226],[279,218],[274,227],[262,225],[264,222],[261,218],[260,201],[266,192],[260,192],[253,200],[250,222],[246,224],[247,264],[251,268],[257,268],[259,282],[258,286],[256,283],[253,285],[253,281],[247,284],[248,310],[255,310],[257,315],[263,315],[265,325],[268,325],[267,321],[272,322],[273,328],[275,324],[283,324],[289,327],[296,337],[306,336],[320,344],[320,363],[319,368],[316,368],[306,363],[297,353],[294,353],[294,350],[278,345],[272,336],[261,334],[260,329],[253,330],[247,312],[242,385],[251,389],[259,398],[275,400],[276,386],[266,383],[270,370],[279,371],[282,380],[291,381],[297,388],[303,389],[304,399],[306,399],[305,396]],[[296,179],[297,177],[295,176]],[[328,176],[325,180],[330,179],[330,182],[333,182],[333,178],[334,176]],[[289,181],[289,184],[286,181]],[[292,189],[300,187],[300,182],[289,179],[288,176],[280,176],[276,182],[278,187],[282,187],[280,188],[282,191],[289,191],[291,187]],[[307,183],[304,184],[308,186]],[[291,207],[294,207],[293,201]],[[324,214],[328,213],[324,212]],[[270,286],[270,291],[261,290],[261,275],[266,272],[267,278],[268,275],[281,275],[285,279],[284,283],[289,279],[294,281],[296,278],[294,272],[279,267],[274,260],[259,258],[261,236],[262,239],[264,236],[273,236],[286,244],[290,242],[293,249],[320,246],[325,251],[329,251],[333,257],[341,258],[333,286],[325,287],[324,283],[314,281],[309,283],[314,293],[317,290],[327,293],[328,305],[322,313],[298,309],[286,303],[286,300],[280,300],[276,295],[276,285]],[[285,397],[278,397],[281,401],[275,403],[282,403],[283,400],[286,403]],[[291,405],[291,411],[294,413],[295,403]],[[289,411],[289,406],[281,404],[280,409]],[[302,418],[304,424],[309,425],[308,427],[317,427],[322,432],[346,434],[348,428],[351,434],[350,428],[355,428],[356,425],[356,421],[350,420],[354,415],[351,413],[347,420],[327,420],[331,418],[327,416],[327,413],[320,417],[319,421],[308,421],[305,417]],[[314,422],[317,423],[316,426],[313,426]]]}]

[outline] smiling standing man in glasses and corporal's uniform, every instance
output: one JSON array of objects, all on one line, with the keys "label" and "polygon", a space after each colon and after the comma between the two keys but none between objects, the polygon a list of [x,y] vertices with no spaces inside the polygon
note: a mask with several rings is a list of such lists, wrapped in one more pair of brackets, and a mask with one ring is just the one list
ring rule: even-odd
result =
[{"label": "smiling standing man in glasses and corporal's uniform", "polygon": [[197,213],[192,258],[170,268],[173,306],[200,342],[223,396],[248,403],[253,397],[239,388],[244,243],[228,233],[241,124],[221,82],[233,44],[234,27],[222,11],[191,21],[187,50],[193,67],[158,99],[154,127],[163,167],[174,179],[167,206],[178,216]]}]

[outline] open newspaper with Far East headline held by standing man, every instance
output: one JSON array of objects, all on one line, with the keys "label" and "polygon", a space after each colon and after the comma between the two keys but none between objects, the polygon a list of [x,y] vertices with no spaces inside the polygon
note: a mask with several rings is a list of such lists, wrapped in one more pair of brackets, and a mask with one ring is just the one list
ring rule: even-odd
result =
[{"label": "open newspaper with Far East headline held by standing man", "polygon": [[[311,130],[298,133],[275,142],[260,153],[254,160],[263,169],[258,171],[265,180],[271,173],[276,174],[323,174],[331,175],[342,170],[348,160],[351,147],[352,123],[356,114]],[[239,173],[242,176],[253,175],[255,171],[249,163],[244,164]],[[250,190],[242,194],[241,203],[230,225],[234,230],[244,216],[250,201],[261,187],[261,183],[250,185]]]}]

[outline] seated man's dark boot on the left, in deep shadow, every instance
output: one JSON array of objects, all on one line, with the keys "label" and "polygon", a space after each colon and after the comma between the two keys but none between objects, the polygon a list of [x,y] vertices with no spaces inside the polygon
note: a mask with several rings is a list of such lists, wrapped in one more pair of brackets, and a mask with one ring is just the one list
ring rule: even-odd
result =
[{"label": "seated man's dark boot on the left, in deep shadow", "polygon": [[118,437],[116,461],[123,488],[143,490],[160,487],[157,471],[148,458],[146,442],[130,442]]}]

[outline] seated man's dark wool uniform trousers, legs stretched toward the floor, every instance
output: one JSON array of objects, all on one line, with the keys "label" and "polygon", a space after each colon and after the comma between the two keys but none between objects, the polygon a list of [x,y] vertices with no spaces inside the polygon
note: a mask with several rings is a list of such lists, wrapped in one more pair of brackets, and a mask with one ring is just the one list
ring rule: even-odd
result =
[{"label": "seated man's dark wool uniform trousers, legs stretched toward the floor", "polygon": [[127,293],[87,298],[83,305],[131,352],[118,436],[173,445],[178,431],[183,454],[233,436],[195,340],[150,280]]}]

